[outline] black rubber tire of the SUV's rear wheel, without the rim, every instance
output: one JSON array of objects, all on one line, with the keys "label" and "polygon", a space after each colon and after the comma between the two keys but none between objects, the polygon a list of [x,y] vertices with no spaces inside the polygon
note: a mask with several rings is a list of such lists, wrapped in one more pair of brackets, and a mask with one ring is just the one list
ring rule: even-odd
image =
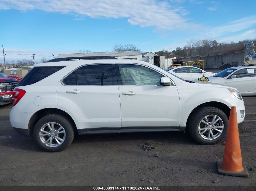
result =
[{"label": "black rubber tire of the SUV's rear wheel, without the rim", "polygon": [[[58,123],[60,124],[63,129],[65,130],[65,139],[62,142],[62,144],[56,146],[56,147],[50,147],[45,145],[39,136],[39,132],[42,126],[44,126],[46,123]],[[48,135],[50,136],[50,135]],[[36,124],[35,128],[33,130],[33,137],[34,141],[37,143],[37,145],[43,150],[47,152],[59,152],[67,148],[71,142],[74,139],[74,129],[72,128],[72,123],[69,119],[67,119],[65,116],[59,115],[59,114],[50,114],[47,116],[42,117]],[[56,141],[55,141],[56,143]]]}]

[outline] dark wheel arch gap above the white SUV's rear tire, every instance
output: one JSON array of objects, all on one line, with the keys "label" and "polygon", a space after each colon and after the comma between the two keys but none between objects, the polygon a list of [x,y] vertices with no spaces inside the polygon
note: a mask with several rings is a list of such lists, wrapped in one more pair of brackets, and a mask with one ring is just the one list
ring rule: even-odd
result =
[{"label": "dark wheel arch gap above the white SUV's rear tire", "polygon": [[41,110],[38,110],[37,112],[35,112],[29,119],[28,135],[33,135],[33,129],[35,127],[35,124],[38,122],[38,120],[44,116],[49,115],[49,114],[60,114],[60,115],[67,117],[72,123],[71,125],[74,129],[74,132],[77,132],[77,127],[76,127],[75,121],[72,119],[72,117],[67,112],[60,110],[58,108],[44,108],[44,109],[41,109]]}]

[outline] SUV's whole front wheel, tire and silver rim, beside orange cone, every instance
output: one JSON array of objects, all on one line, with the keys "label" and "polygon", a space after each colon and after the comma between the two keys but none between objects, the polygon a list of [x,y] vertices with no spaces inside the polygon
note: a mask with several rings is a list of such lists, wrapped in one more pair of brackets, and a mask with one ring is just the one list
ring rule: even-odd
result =
[{"label": "SUV's whole front wheel, tire and silver rim, beside orange cone", "polygon": [[188,130],[191,137],[202,145],[220,142],[227,133],[228,117],[215,107],[202,107],[189,118]]}]

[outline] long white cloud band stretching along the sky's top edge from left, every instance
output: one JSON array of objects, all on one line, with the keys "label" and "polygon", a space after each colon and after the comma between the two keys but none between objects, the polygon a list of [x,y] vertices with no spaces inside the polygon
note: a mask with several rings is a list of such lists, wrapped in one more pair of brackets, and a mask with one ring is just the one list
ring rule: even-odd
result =
[{"label": "long white cloud band stretching along the sky's top edge from left", "polygon": [[[21,11],[43,10],[75,14],[91,18],[127,18],[130,24],[172,30],[186,29],[193,24],[184,18],[183,10],[157,0],[1,0],[0,9]],[[75,20],[80,20],[76,18]]]}]

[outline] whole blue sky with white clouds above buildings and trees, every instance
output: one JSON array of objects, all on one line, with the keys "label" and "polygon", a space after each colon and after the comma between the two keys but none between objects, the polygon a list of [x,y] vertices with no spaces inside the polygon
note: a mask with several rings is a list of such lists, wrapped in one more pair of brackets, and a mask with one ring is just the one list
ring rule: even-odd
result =
[{"label": "whole blue sky with white clouds above buildings and trees", "polygon": [[147,52],[183,47],[191,39],[238,42],[256,38],[254,5],[252,0],[0,0],[0,44],[8,61],[34,53],[40,62],[51,53],[112,51],[116,43]]}]

